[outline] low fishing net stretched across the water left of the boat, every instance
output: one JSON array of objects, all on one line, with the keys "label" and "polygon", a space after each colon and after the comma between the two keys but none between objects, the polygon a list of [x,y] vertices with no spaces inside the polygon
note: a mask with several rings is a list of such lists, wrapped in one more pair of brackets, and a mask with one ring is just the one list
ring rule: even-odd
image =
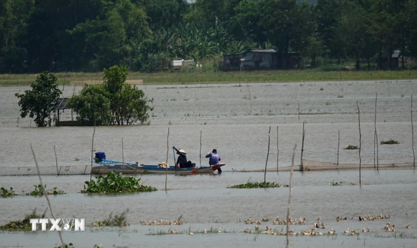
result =
[{"label": "low fishing net stretched across the water left of the boat", "polygon": [[[74,166],[39,166],[41,175],[81,175],[90,174],[91,165]],[[37,175],[36,166],[32,167],[6,167],[0,166],[0,176],[2,175]]]}]

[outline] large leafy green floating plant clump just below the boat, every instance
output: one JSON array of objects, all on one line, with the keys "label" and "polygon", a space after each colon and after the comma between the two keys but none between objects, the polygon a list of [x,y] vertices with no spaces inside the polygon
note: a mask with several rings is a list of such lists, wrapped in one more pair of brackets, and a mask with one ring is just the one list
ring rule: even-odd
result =
[{"label": "large leafy green floating plant clump just below the boat", "polygon": [[151,192],[157,189],[140,184],[140,178],[122,176],[122,173],[108,173],[107,176],[96,176],[97,181],[85,181],[84,190],[80,193],[123,193],[123,192]]}]

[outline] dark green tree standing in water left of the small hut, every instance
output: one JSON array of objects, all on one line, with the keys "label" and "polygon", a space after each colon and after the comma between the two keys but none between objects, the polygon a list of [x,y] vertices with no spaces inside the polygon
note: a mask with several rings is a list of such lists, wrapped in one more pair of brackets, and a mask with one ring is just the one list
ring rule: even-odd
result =
[{"label": "dark green tree standing in water left of the small hut", "polygon": [[[20,98],[20,116],[25,118],[27,114],[29,117],[35,118],[35,123],[38,127],[44,127],[48,124],[45,119],[55,104],[62,91],[58,89],[56,84],[56,77],[48,72],[41,73],[36,82],[31,85],[32,90],[25,90],[24,94],[16,93],[15,96]],[[50,122],[49,122],[50,125]]]}]

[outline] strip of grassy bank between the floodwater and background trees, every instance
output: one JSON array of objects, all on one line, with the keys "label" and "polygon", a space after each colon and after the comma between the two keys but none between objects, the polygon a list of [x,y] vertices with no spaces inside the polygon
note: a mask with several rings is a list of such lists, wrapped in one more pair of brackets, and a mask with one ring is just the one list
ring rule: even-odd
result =
[{"label": "strip of grassy bank between the floodwater and background trees", "polygon": [[[324,71],[307,70],[265,70],[251,72],[213,72],[180,70],[178,72],[137,73],[130,72],[128,80],[142,79],[144,84],[202,84],[202,83],[252,83],[252,82],[304,82],[304,81],[348,81],[348,80],[399,80],[417,79],[417,70],[359,70]],[[3,74],[0,85],[30,85],[38,74]],[[70,81],[101,80],[103,73],[56,73],[58,84],[70,84]]]}]

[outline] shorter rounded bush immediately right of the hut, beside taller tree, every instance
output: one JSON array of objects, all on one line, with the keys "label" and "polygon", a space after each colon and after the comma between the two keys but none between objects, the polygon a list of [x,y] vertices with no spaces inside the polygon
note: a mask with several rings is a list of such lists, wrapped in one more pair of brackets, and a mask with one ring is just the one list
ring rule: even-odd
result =
[{"label": "shorter rounded bush immediately right of the hut, beside taller tree", "polygon": [[103,85],[84,85],[67,104],[77,113],[81,125],[110,125],[114,120],[110,113],[108,92]]}]

